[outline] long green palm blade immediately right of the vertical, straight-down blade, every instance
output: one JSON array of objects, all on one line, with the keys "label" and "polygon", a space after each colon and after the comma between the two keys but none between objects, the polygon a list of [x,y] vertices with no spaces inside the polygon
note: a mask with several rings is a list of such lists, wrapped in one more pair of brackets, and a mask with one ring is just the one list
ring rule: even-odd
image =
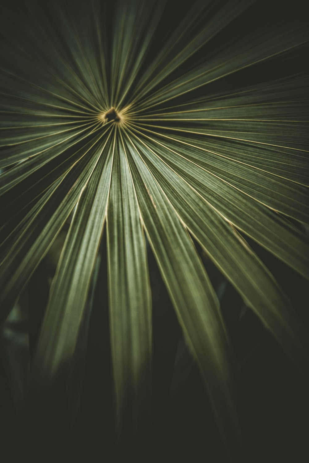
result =
[{"label": "long green palm blade immediately right of the vertical, straight-down blade", "polygon": [[194,244],[138,151],[127,142],[139,208],[184,338],[201,371],[221,437],[241,447],[230,345],[218,300]]}]

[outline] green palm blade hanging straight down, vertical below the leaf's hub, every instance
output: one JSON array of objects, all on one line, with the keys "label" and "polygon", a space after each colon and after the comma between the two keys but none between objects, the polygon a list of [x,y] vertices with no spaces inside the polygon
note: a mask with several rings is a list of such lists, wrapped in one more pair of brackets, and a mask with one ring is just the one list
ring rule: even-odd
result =
[{"label": "green palm blade hanging straight down, vertical below the leaf's hub", "polygon": [[130,442],[141,454],[150,439],[151,294],[139,206],[119,139],[107,211],[107,262],[116,425],[120,442]]}]

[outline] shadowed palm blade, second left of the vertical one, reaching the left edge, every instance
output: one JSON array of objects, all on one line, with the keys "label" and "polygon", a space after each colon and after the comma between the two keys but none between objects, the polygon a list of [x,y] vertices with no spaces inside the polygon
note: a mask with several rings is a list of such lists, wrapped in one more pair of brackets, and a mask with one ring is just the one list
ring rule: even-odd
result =
[{"label": "shadowed palm blade, second left of the vertical one, reaching the left edge", "polygon": [[6,254],[0,268],[0,279],[4,284],[0,296],[2,320],[76,205],[100,155],[101,144],[92,147],[89,157],[83,156],[63,177],[57,188],[44,197],[44,202],[35,208],[35,213],[29,214],[22,234]]}]

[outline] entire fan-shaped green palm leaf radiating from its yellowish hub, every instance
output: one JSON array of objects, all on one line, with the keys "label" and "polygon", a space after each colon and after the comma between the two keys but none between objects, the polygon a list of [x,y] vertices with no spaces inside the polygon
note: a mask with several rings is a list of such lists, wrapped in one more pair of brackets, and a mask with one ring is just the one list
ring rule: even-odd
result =
[{"label": "entire fan-shaped green palm leaf radiating from its yellowish hub", "polygon": [[239,29],[242,1],[25,5],[3,25],[2,321],[74,210],[31,391],[69,368],[105,226],[118,432],[150,433],[146,236],[233,455],[231,347],[192,238],[308,379],[308,335],[245,238],[308,278],[306,79],[289,69],[308,33]]}]

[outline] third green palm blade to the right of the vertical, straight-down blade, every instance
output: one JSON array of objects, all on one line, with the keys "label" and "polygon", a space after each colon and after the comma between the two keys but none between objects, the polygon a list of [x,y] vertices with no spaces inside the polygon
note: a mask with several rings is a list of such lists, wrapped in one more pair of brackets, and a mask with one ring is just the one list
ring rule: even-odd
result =
[{"label": "third green palm blade to the right of the vertical, straight-down blade", "polygon": [[195,188],[215,210],[236,228],[309,278],[309,240],[302,232],[216,175],[179,156],[177,151],[168,148],[165,143],[161,144],[158,139],[155,141],[152,143],[147,137],[147,144],[156,149],[161,159]]}]

